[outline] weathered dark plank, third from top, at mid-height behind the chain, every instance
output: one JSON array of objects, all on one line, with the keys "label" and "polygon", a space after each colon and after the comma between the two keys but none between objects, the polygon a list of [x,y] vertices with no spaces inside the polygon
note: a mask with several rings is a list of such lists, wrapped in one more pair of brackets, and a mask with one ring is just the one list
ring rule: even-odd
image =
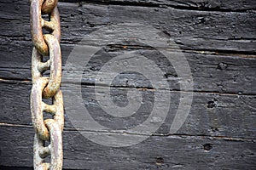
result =
[{"label": "weathered dark plank, third from top, at mid-height behind the chain", "polygon": [[[5,41],[4,41],[5,42]],[[0,47],[0,77],[3,79],[31,80],[31,53],[32,42],[13,41],[19,45],[9,48],[9,42]],[[61,44],[62,63],[65,70],[65,63],[73,49],[73,44]],[[21,54],[20,54],[20,51]],[[143,54],[152,59],[159,65],[159,68],[165,73],[163,81],[168,81],[170,88],[179,90],[177,73],[172,65],[168,65],[163,56],[151,49],[135,49],[131,47],[105,48],[100,54],[96,54],[91,60],[92,64],[84,65],[84,84],[94,84],[96,74],[105,75],[107,73],[100,71],[101,66],[106,63],[105,56],[116,56],[125,52],[134,54]],[[173,51],[175,54],[175,51]],[[196,92],[218,92],[226,94],[255,94],[256,56],[239,54],[199,54],[195,51],[184,51],[184,56],[189,62],[190,70],[193,76],[194,90]],[[95,60],[95,62],[93,61]],[[73,68],[75,69],[75,68]],[[154,68],[148,68],[148,72],[154,73]],[[72,77],[70,77],[72,78]],[[128,83],[125,80],[129,80]],[[125,87],[144,87],[149,84],[145,77],[138,76],[134,72],[123,73],[117,77],[115,86]]]}]

